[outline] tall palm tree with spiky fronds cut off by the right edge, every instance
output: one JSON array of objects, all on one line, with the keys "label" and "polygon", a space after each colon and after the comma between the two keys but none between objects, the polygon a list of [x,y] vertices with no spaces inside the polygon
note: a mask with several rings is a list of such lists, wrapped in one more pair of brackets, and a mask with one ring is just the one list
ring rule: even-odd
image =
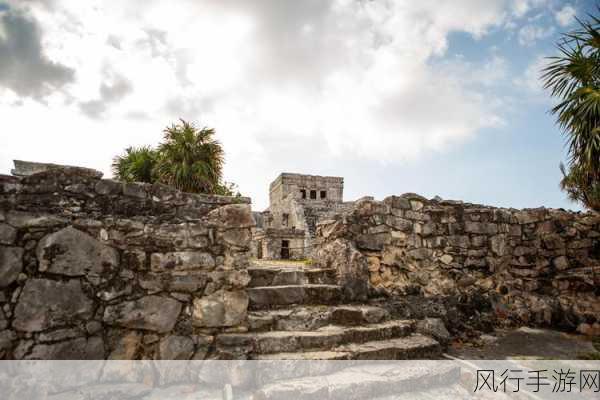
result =
[{"label": "tall palm tree with spiky fronds cut off by the right edge", "polygon": [[561,187],[594,210],[600,185],[600,19],[590,16],[563,35],[560,55],[544,68],[544,87],[559,103],[551,110],[567,136],[568,167]]}]

